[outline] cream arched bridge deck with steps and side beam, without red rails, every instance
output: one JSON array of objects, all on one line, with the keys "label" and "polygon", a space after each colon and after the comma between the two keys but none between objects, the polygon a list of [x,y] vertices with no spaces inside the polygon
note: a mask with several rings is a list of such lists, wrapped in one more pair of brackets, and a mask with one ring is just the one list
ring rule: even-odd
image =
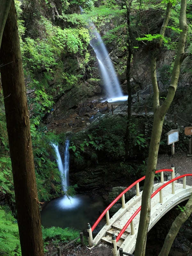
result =
[{"label": "cream arched bridge deck with steps and side beam, without red rails", "polygon": [[[155,191],[162,185],[163,183],[155,184],[153,191]],[[186,186],[185,189],[183,188],[183,184],[181,183],[175,183],[174,186],[175,194],[172,194],[172,184],[169,184],[165,188],[163,188],[163,203],[159,203],[159,193],[151,199],[151,219],[148,231],[166,212],[171,210],[175,205],[187,200],[190,197],[192,192],[191,186]],[[94,245],[98,244],[100,241],[111,244],[112,234],[115,234],[117,236],[126,224],[126,222],[131,218],[132,214],[140,207],[141,195],[142,192],[140,192],[139,196],[134,196],[125,204],[125,208],[119,209],[119,211],[113,215],[113,217],[110,219],[109,225],[106,224],[93,239]],[[117,242],[117,248],[121,247],[123,248],[123,251],[127,253],[134,252],[139,226],[139,218],[140,212],[133,220],[134,234],[131,234],[131,227],[129,225],[128,228],[125,230],[124,234]]]}]

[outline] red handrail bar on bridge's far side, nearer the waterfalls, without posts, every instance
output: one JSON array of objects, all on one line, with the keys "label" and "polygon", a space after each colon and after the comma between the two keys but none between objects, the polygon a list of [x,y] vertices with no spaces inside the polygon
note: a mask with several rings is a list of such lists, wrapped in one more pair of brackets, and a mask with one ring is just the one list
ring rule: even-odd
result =
[{"label": "red handrail bar on bridge's far side, nearer the waterfalls, without posts", "polygon": [[[161,169],[156,171],[155,173],[158,172],[172,172],[172,169]],[[139,180],[136,180],[135,182],[133,182],[129,187],[127,187],[123,192],[121,192],[121,194],[119,194],[119,196],[117,196],[109,205],[108,207],[101,213],[101,215],[99,216],[99,218],[95,221],[95,223],[93,224],[91,230],[93,231],[96,226],[98,225],[98,223],[100,222],[100,220],[103,218],[103,216],[106,214],[106,212],[132,187],[134,187],[138,182],[142,181],[145,179],[145,176],[143,176],[142,178],[140,178]]]}]

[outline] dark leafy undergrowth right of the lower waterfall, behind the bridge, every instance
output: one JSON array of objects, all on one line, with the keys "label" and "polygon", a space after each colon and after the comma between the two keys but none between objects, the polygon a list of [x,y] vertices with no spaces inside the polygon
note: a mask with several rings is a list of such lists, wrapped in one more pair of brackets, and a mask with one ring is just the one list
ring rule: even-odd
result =
[{"label": "dark leafy undergrowth right of the lower waterfall, behind the bridge", "polygon": [[[93,122],[86,132],[73,135],[69,147],[73,165],[90,166],[102,163],[106,159],[124,163],[126,123],[126,117],[108,116],[100,119],[99,122]],[[137,119],[130,123],[130,159],[141,156],[142,161],[147,157],[149,140],[145,138],[142,129]],[[123,165],[119,168],[121,167],[123,169]]]}]

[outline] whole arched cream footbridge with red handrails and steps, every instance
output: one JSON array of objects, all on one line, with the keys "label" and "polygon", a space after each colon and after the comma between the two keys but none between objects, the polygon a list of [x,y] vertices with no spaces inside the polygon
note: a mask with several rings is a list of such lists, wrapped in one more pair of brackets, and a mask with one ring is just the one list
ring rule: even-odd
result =
[{"label": "whole arched cream footbridge with red handrails and steps", "polygon": [[[164,172],[171,172],[172,179],[164,181]],[[186,177],[192,174],[184,174],[179,177],[174,177],[174,167],[172,169],[162,169],[156,171],[161,174],[161,181],[154,184],[153,193],[151,195],[151,218],[148,231],[156,224],[156,222],[175,205],[187,200],[192,192],[192,187],[186,185]],[[119,248],[123,248],[123,252],[133,253],[135,250],[140,209],[141,209],[141,195],[139,182],[144,180],[145,176],[136,180],[132,185],[126,188],[111,204],[101,213],[98,220],[94,223],[92,228],[88,224],[88,240],[89,246],[92,248],[100,241],[112,243],[113,255],[119,255]],[[177,183],[177,181],[182,183]],[[136,186],[136,195],[125,203],[124,194]],[[109,209],[121,198],[122,207],[109,218]],[[103,216],[106,216],[106,224],[100,232],[92,239],[92,231],[98,225]],[[121,249],[122,250],[122,249]]]}]

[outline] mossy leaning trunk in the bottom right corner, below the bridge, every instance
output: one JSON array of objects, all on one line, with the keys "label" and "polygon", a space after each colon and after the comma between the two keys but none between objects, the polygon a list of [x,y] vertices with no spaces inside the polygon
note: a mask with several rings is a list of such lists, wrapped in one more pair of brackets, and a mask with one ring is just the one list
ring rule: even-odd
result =
[{"label": "mossy leaning trunk in the bottom right corner, below the bridge", "polygon": [[159,256],[168,256],[172,243],[177,236],[181,225],[188,219],[188,217],[192,213],[192,194],[185,205],[185,210],[181,212],[177,218],[173,221],[172,226],[169,230],[169,233],[167,234],[163,247],[161,249],[161,252],[159,253]]}]

